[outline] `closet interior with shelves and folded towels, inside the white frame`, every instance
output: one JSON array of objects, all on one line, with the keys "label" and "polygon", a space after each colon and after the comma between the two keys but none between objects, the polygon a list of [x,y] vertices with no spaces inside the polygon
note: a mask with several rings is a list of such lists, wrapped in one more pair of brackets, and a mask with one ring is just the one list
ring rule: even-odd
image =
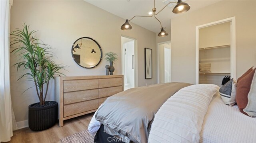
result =
[{"label": "closet interior with shelves and folded towels, inside the white frame", "polygon": [[199,83],[222,86],[230,77],[230,22],[199,29]]}]

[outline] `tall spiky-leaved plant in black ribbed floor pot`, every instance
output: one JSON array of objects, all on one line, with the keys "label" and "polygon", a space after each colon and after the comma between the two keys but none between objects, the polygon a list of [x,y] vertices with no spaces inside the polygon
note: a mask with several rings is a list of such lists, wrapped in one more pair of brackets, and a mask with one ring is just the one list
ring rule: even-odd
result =
[{"label": "tall spiky-leaved plant in black ribbed floor pot", "polygon": [[29,71],[22,74],[18,80],[26,77],[32,81],[36,88],[35,96],[39,99],[38,103],[28,106],[28,126],[34,131],[42,131],[52,127],[58,119],[58,103],[45,100],[50,80],[56,75],[60,76],[62,73],[59,71],[64,69],[64,66],[52,61],[53,55],[48,51],[52,47],[34,38],[32,35],[35,32],[29,31],[29,26],[24,24],[23,29],[16,29],[10,33],[10,45],[15,48],[12,52],[20,56],[19,61],[14,64],[17,71]]}]

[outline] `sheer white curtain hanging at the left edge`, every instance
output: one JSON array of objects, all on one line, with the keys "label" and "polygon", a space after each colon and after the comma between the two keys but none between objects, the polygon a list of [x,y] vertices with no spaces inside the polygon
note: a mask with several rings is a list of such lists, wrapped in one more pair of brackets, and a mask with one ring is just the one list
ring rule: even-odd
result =
[{"label": "sheer white curtain hanging at the left edge", "polygon": [[[0,0],[0,141],[10,141],[15,122],[10,94],[10,7],[12,1]],[[15,125],[15,124],[14,124]]]}]

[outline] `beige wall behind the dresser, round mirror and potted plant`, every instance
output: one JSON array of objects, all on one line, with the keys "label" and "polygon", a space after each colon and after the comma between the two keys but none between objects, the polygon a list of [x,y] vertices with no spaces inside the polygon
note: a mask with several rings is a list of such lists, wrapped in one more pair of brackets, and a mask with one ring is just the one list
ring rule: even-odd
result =
[{"label": "beige wall behind the dresser, round mirror and potted plant", "polygon": [[[109,65],[104,59],[93,69],[83,69],[76,65],[71,55],[71,47],[79,37],[91,37],[102,47],[103,54],[112,51],[118,55],[118,61],[114,63],[114,74],[121,74],[121,35],[133,37],[138,40],[138,86],[156,83],[156,33],[133,24],[130,31],[122,31],[120,26],[124,19],[110,14],[96,6],[82,0],[40,1],[21,0],[14,1],[11,10],[11,31],[22,28],[23,22],[30,24],[30,30],[38,30],[36,37],[51,45],[58,59],[56,63],[62,63],[69,67],[62,71],[66,76],[104,75],[105,65]],[[152,49],[153,54],[153,78],[144,79],[144,48]],[[17,58],[11,54],[11,65]],[[32,82],[25,79],[17,81],[18,77],[27,71],[20,70],[17,73],[11,68],[11,95],[12,105],[16,121],[28,119],[28,105],[38,102],[35,89],[24,92]],[[48,100],[54,100],[54,84],[50,85]]]}]

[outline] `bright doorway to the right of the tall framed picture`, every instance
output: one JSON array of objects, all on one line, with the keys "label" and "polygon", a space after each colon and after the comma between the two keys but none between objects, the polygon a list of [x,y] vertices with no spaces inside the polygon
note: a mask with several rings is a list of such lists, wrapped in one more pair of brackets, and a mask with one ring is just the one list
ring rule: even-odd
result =
[{"label": "bright doorway to the right of the tall framed picture", "polygon": [[158,43],[158,83],[171,82],[171,42]]}]

